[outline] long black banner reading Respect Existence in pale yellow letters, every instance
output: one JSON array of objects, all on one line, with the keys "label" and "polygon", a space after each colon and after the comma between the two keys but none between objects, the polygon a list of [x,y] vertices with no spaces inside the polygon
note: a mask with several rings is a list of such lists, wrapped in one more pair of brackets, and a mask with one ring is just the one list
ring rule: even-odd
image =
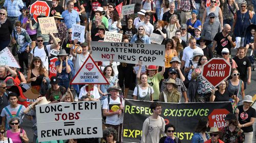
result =
[{"label": "long black banner reading Respect Existence in pale yellow letters", "polygon": [[[143,122],[153,114],[150,109],[151,103],[150,101],[125,100],[122,130],[123,142],[140,142]],[[185,143],[191,142],[199,119],[202,117],[208,118],[214,109],[226,109],[232,112],[230,102],[178,104],[162,102],[160,104],[162,106],[160,116],[163,117],[166,124],[173,124],[176,127],[174,135]],[[219,113],[222,115],[222,112]]]}]

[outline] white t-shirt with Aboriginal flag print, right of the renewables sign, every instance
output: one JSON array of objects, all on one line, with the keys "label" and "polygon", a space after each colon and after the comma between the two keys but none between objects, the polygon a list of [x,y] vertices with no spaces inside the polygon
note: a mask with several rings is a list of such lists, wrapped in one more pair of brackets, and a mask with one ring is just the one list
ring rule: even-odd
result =
[{"label": "white t-shirt with Aboriginal flag print, right of the renewables sign", "polygon": [[[121,103],[121,101],[120,101],[119,97],[117,97],[116,100],[113,100],[110,97],[110,103],[109,104],[108,104],[108,98],[106,98],[106,99],[104,99],[102,109],[107,109],[109,112],[112,111],[110,109],[113,109],[113,111],[116,111],[119,108],[120,103]],[[122,105],[124,106],[124,101],[123,100],[122,100]],[[120,116],[118,116],[116,114],[116,115],[106,117],[106,124],[119,125],[119,124],[122,124],[122,123],[123,123],[123,113]]]}]

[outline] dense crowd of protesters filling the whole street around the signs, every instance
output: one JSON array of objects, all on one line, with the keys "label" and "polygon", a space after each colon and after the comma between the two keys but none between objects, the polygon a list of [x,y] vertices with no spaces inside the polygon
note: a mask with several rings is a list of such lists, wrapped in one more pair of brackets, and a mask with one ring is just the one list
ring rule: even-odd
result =
[{"label": "dense crowd of protesters filling the whole street around the signs", "polygon": [[[250,107],[254,101],[245,91],[255,68],[256,1],[206,2],[53,0],[50,16],[55,19],[58,33],[42,34],[40,25],[31,19],[30,1],[0,1],[0,51],[17,48],[20,65],[20,69],[0,66],[0,142],[37,142],[35,105],[78,100],[101,101],[103,138],[51,142],[121,142],[126,98],[155,101],[150,107],[153,115],[143,123],[141,142],[182,142],[174,136],[178,127],[165,125],[160,117],[162,107],[158,101],[229,101],[234,114],[226,116],[227,127],[222,131],[212,127],[206,132],[208,120],[203,118],[195,127],[192,142],[252,142],[256,113]],[[120,3],[135,4],[134,14],[119,15],[115,7]],[[42,17],[47,16],[41,13],[37,18]],[[72,40],[73,24],[86,26],[86,42]],[[90,42],[104,41],[106,31],[123,34],[125,43],[155,44],[150,37],[152,33],[158,34],[165,48],[164,66],[143,65],[141,61],[136,65],[97,61],[110,84],[71,85],[91,54]],[[80,53],[75,50],[79,45]],[[55,56],[50,54],[51,50],[59,52],[55,62],[57,75],[49,78],[50,59]],[[73,58],[70,60],[69,56]],[[202,76],[203,65],[216,57],[224,58],[232,66],[231,76],[217,89]],[[133,69],[135,66],[138,71]],[[30,83],[33,94],[40,96],[27,107],[22,105],[26,98],[20,90],[21,83]],[[109,104],[120,106],[112,111]],[[19,128],[25,115],[33,121],[33,135]],[[148,130],[152,126],[154,129]],[[33,136],[33,140],[28,136]]]}]

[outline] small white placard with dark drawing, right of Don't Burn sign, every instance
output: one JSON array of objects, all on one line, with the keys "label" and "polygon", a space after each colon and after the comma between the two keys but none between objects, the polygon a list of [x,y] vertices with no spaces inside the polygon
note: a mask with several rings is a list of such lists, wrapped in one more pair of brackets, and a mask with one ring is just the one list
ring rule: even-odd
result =
[{"label": "small white placard with dark drawing, right of Don't Burn sign", "polygon": [[86,26],[82,26],[79,24],[73,24],[71,40],[77,39],[79,42],[83,43],[85,30],[86,30]]}]

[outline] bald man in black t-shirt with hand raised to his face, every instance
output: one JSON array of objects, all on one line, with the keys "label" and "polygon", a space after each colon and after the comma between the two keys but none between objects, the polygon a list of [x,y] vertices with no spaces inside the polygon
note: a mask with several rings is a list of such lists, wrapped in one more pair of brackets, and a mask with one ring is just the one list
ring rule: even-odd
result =
[{"label": "bald man in black t-shirt with hand raised to his face", "polygon": [[229,33],[231,31],[231,27],[229,24],[225,24],[223,27],[223,31],[220,33],[217,33],[214,37],[214,42],[212,43],[212,51],[214,51],[214,48],[217,50],[217,56],[222,57],[221,51],[223,48],[228,48],[229,53],[231,55],[230,48],[236,46],[236,38],[233,36],[230,36]]}]

